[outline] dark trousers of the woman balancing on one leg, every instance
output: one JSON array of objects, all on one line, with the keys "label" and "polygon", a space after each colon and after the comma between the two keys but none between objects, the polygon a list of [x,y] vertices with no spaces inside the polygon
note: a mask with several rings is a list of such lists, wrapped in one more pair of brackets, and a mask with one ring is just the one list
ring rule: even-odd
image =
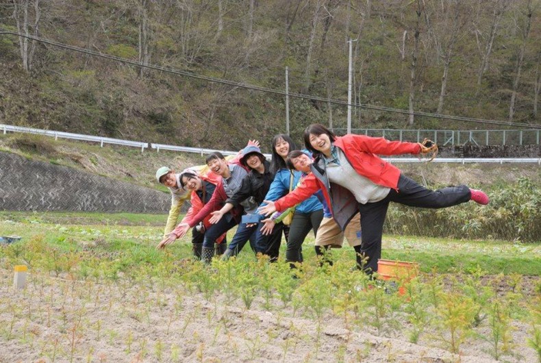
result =
[{"label": "dark trousers of the woman balancing on one leg", "polygon": [[400,175],[397,190],[391,189],[389,195],[375,203],[359,204],[361,213],[361,253],[368,258],[364,271],[377,271],[377,260],[381,258],[381,235],[383,223],[387,215],[389,202],[394,201],[412,207],[446,208],[470,200],[470,189],[467,186],[455,186],[439,190],[429,190],[414,180]]}]

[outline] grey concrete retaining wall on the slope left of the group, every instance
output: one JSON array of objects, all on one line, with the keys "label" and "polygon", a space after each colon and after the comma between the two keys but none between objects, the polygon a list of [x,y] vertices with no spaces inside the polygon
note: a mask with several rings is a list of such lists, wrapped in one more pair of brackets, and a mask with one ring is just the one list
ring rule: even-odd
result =
[{"label": "grey concrete retaining wall on the slope left of the group", "polygon": [[168,193],[0,152],[0,210],[166,213]]}]

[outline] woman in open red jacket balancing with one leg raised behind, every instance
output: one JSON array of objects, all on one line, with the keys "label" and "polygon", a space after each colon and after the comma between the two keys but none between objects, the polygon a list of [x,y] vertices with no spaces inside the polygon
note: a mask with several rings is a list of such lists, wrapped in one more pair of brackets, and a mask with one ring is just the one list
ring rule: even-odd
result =
[{"label": "woman in open red jacket balancing with one leg raised behind", "polygon": [[364,271],[377,271],[381,257],[381,235],[390,201],[420,208],[445,208],[473,200],[488,204],[480,190],[456,186],[429,190],[401,173],[399,168],[375,154],[428,153],[420,143],[388,141],[384,138],[352,135],[338,137],[319,124],[305,129],[306,149],[312,151],[312,173],[290,194],[260,209],[264,214],[283,211],[303,201],[318,189],[331,207],[333,217],[345,229],[357,212],[361,214],[361,251],[366,257]]}]

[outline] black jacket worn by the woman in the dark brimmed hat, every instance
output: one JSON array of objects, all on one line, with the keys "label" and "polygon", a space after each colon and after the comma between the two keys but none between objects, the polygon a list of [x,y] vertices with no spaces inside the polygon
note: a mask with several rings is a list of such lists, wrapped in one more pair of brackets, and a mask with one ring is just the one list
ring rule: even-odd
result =
[{"label": "black jacket worn by the woman in the dark brimmed hat", "polygon": [[275,174],[270,171],[271,164],[266,160],[263,164],[265,166],[264,173],[260,174],[252,169],[244,179],[242,179],[242,184],[240,184],[240,188],[238,188],[235,195],[227,199],[226,203],[238,206],[241,201],[244,201],[244,199],[249,197],[253,197],[257,204],[262,203],[275,176]]}]

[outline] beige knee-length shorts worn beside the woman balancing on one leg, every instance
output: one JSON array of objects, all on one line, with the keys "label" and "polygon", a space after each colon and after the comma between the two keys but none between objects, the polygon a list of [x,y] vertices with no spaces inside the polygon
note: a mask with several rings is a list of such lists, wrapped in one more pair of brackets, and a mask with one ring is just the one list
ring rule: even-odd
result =
[{"label": "beige knee-length shorts worn beside the woman balancing on one leg", "polygon": [[331,246],[340,248],[344,243],[344,236],[351,247],[361,244],[361,215],[355,214],[346,230],[342,232],[334,218],[323,217],[316,236],[316,246]]}]

